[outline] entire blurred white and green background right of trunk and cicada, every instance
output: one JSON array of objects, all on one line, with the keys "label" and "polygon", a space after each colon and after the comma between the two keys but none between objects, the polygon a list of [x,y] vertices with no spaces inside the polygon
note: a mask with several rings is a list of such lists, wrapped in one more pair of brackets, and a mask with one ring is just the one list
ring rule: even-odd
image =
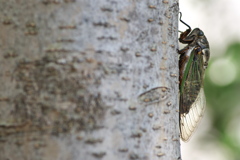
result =
[{"label": "entire blurred white and green background right of trunk and cicada", "polygon": [[[196,133],[182,143],[182,159],[240,160],[240,1],[179,0],[179,5],[182,19],[204,31],[211,50],[207,108]],[[179,30],[186,27],[179,23]]]}]

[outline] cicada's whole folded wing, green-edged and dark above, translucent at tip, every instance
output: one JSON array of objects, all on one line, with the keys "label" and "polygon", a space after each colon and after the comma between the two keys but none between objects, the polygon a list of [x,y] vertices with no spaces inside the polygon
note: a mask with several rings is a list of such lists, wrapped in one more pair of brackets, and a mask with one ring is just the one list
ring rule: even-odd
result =
[{"label": "cicada's whole folded wing, green-edged and dark above, translucent at tip", "polygon": [[206,106],[203,91],[204,60],[200,47],[189,49],[190,57],[180,79],[180,132],[181,139],[188,141]]}]

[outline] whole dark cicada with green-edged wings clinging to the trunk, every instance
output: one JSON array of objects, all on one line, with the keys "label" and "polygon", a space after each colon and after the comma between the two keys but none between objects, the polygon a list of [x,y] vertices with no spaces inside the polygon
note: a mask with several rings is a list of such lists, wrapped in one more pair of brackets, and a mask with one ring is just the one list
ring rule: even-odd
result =
[{"label": "whole dark cicada with green-edged wings clinging to the trunk", "polygon": [[188,27],[180,34],[179,42],[187,44],[179,50],[179,127],[181,139],[188,141],[203,116],[206,99],[203,90],[204,72],[208,66],[210,50],[202,30]]}]

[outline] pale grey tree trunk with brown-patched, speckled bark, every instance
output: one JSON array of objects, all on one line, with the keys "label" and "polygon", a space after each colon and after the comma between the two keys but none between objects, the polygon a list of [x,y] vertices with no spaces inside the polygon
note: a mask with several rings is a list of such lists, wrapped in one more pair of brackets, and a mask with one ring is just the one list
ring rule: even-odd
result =
[{"label": "pale grey tree trunk with brown-patched, speckled bark", "polygon": [[0,13],[0,160],[180,159],[178,0]]}]

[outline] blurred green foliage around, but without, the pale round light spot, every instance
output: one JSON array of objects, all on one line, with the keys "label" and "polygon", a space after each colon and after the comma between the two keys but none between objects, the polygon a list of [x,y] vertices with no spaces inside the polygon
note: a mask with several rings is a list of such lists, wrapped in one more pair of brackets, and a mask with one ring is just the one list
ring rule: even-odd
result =
[{"label": "blurred green foliage around, but without, the pale round light spot", "polygon": [[[209,69],[218,58],[230,57],[236,66],[237,76],[228,85],[220,86],[210,78]],[[221,70],[214,72],[221,73]],[[211,129],[207,141],[220,142],[234,157],[240,159],[240,42],[231,44],[221,57],[212,58],[204,82]],[[239,120],[239,121],[238,121]],[[237,123],[239,122],[239,123]]]}]

